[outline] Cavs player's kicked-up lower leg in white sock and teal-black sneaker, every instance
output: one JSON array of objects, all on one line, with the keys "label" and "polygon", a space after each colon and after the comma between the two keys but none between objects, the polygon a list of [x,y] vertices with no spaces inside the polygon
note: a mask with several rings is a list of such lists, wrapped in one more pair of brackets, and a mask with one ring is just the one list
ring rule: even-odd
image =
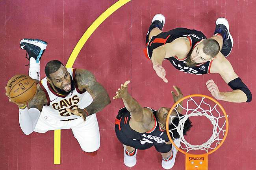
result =
[{"label": "Cavs player's kicked-up lower leg in white sock and teal-black sneaker", "polygon": [[30,60],[29,76],[36,83],[40,81],[40,60],[45,52],[47,42],[39,39],[24,38],[20,41],[20,48],[26,50]]}]

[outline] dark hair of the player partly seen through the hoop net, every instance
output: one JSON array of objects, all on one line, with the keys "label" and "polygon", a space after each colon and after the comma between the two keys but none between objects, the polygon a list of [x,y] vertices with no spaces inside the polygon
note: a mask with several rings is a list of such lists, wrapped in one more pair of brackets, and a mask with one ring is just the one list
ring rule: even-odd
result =
[{"label": "dark hair of the player partly seen through the hoop net", "polygon": [[[182,117],[184,115],[179,113],[179,117]],[[171,130],[171,132],[173,132],[173,135],[170,133],[171,138],[174,137],[174,139],[180,138],[180,134],[177,132],[176,127],[178,126],[179,122],[180,122],[180,118],[178,116],[174,117],[174,119],[172,120],[172,123],[169,123],[169,130]],[[183,117],[181,118],[183,119]],[[174,125],[175,126],[174,126]],[[187,118],[187,120],[185,121],[184,127],[183,127],[183,135],[187,135],[187,132],[190,130],[190,128],[192,127],[192,122],[189,120],[189,118]],[[174,129],[174,130],[172,130]]]}]

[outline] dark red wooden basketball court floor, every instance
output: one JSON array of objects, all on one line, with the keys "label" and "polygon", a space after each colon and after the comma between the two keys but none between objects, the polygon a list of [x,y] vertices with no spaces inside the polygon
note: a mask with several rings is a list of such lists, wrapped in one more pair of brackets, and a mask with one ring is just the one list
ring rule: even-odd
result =
[{"label": "dark red wooden basketball court floor", "polygon": [[[225,17],[234,46],[228,60],[252,92],[250,103],[219,101],[229,115],[226,141],[209,155],[209,170],[254,170],[256,167],[255,61],[256,1],[254,0],[131,0],[96,28],[78,54],[73,67],[90,70],[108,91],[111,104],[96,113],[101,145],[98,155],[84,154],[71,130],[61,130],[61,163],[54,165],[54,132],[25,135],[19,126],[18,107],[8,102],[4,87],[17,74],[28,74],[28,60],[20,49],[22,38],[48,42],[41,60],[41,78],[50,60],[67,63],[74,47],[93,22],[118,0],[2,0],[0,1],[0,169],[1,170],[163,170],[161,155],[154,149],[139,150],[137,164],[126,167],[123,146],[115,131],[115,117],[124,104],[113,100],[115,91],[131,80],[129,92],[142,105],[158,109],[173,105],[171,91],[178,86],[184,96],[211,97],[205,83],[213,79],[220,91],[231,88],[218,74],[190,75],[165,61],[168,83],[152,68],[143,49],[154,15],[165,15],[163,31],[187,27],[210,38],[215,21]],[[203,134],[202,130],[202,134]],[[185,155],[178,152],[173,170],[185,169]]]}]

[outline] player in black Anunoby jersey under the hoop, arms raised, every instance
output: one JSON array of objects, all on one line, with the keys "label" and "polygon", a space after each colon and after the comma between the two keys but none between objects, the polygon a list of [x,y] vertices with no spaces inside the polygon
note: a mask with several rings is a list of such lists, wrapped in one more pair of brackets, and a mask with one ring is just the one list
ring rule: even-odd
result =
[{"label": "player in black Anunoby jersey under the hoop, arms raised", "polygon": [[[122,98],[124,102],[124,108],[119,110],[115,121],[115,132],[119,141],[124,144],[124,164],[128,167],[132,167],[136,164],[137,149],[145,150],[152,146],[156,148],[162,155],[162,167],[165,169],[171,169],[175,162],[177,149],[172,146],[166,133],[166,119],[170,111],[170,108],[161,107],[158,111],[151,108],[143,108],[127,91],[127,84],[130,81],[126,81],[124,85],[121,84],[116,93],[117,95],[113,99]],[[174,103],[183,97],[182,92],[176,86],[173,86],[177,92],[177,96],[172,91]],[[182,103],[181,103],[182,104]],[[178,112],[182,112],[182,108],[178,108]],[[177,115],[176,111],[173,111],[171,115]],[[176,120],[177,119],[177,120]],[[170,119],[169,129],[173,129],[174,125],[171,121],[177,121],[178,118]],[[173,127],[172,127],[173,126]],[[191,121],[186,120],[183,134],[191,128]],[[178,132],[173,132],[174,139],[179,138]],[[174,141],[173,139],[173,141]],[[180,146],[178,140],[174,141],[176,146]]]}]

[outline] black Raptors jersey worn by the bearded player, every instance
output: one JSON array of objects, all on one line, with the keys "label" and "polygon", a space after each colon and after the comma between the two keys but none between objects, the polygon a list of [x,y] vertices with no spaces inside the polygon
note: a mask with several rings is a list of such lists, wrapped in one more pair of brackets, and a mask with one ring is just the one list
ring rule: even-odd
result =
[{"label": "black Raptors jersey worn by the bearded player", "polygon": [[[159,46],[162,46],[166,43],[173,42],[173,40],[179,37],[189,38],[191,49],[195,48],[200,40],[206,39],[205,35],[202,32],[195,29],[172,29],[171,31],[163,32],[158,34],[157,36],[153,36],[150,39],[150,41],[147,43],[147,49],[144,50],[146,57],[151,60],[153,49],[158,48]],[[194,67],[188,67],[185,62],[186,58],[184,58],[183,60],[179,60],[176,56],[173,56],[165,59],[169,60],[176,69],[185,73],[191,73],[195,75],[210,73],[211,63],[213,61],[211,60]]]}]

